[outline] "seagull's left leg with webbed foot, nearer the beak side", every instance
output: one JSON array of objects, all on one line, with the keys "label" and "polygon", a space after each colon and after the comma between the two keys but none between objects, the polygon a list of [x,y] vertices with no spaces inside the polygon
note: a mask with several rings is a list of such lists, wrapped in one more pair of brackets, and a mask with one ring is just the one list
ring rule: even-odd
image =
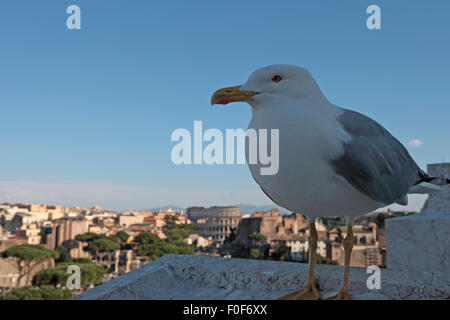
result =
[{"label": "seagull's left leg with webbed foot, nearer the beak side", "polygon": [[316,262],[317,250],[317,231],[314,222],[309,224],[309,265],[308,278],[305,287],[302,290],[287,294],[278,300],[318,300],[320,299],[319,290],[316,287],[314,279],[314,264]]}]

